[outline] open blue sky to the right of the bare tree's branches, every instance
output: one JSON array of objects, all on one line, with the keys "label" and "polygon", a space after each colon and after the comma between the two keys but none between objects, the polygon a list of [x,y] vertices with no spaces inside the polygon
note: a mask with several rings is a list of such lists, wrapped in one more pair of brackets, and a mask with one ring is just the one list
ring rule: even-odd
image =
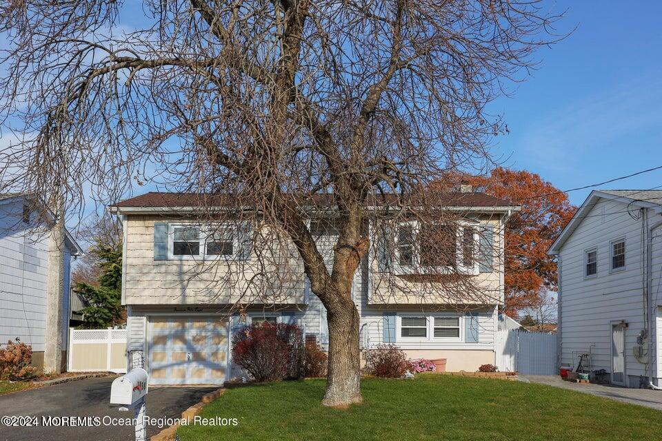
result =
[{"label": "open blue sky to the right of the bare tree's branches", "polygon": [[[662,165],[662,2],[569,1],[565,40],[536,54],[538,70],[492,104],[510,134],[496,139],[503,165],[561,189]],[[652,188],[662,170],[605,185]],[[590,190],[571,192],[580,204]]]}]

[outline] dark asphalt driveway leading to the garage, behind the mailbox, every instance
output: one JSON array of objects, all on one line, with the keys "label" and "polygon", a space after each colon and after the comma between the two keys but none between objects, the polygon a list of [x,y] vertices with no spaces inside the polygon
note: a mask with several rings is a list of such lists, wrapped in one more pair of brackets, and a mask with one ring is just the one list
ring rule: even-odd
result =
[{"label": "dark asphalt driveway leading to the garage, behind the mailbox", "polygon": [[[39,427],[7,427],[0,425],[0,440],[94,440],[115,441],[134,439],[134,428],[120,421],[133,418],[133,411],[119,411],[111,406],[110,384],[114,377],[87,378],[55,386],[32,389],[0,396],[0,416],[37,417]],[[214,391],[214,387],[150,387],[147,396],[147,415],[157,418],[148,426],[148,437],[159,433],[161,418],[179,418],[181,412]],[[59,425],[43,427],[48,417],[90,417],[82,427]],[[42,418],[43,417],[43,418]],[[30,418],[32,420],[32,418]],[[34,420],[33,420],[34,421]],[[56,421],[53,423],[53,421]],[[73,424],[77,424],[74,420]],[[97,423],[97,421],[99,421]],[[3,421],[3,423],[6,423]],[[165,424],[167,427],[168,424]]]}]

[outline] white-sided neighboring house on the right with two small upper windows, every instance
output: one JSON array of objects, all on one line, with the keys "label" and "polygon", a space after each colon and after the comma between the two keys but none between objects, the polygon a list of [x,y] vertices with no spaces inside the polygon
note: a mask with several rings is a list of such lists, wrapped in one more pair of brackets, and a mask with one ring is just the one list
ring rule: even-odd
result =
[{"label": "white-sided neighboring house on the right with two small upper windows", "polygon": [[591,192],[556,239],[562,367],[662,386],[662,191]]}]

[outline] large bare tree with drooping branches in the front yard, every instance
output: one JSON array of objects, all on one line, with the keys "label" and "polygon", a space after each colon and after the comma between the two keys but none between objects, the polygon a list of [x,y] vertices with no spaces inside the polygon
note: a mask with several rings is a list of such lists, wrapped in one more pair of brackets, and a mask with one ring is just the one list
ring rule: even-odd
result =
[{"label": "large bare tree with drooping branches in the front yard", "polygon": [[[208,195],[232,196],[236,216],[279,238],[265,258],[295,252],[328,310],[328,405],[361,401],[350,292],[369,229],[448,215],[428,183],[489,163],[505,127],[485,105],[523,78],[557,18],[536,0],[148,0],[126,30],[116,1],[1,8],[3,115],[26,134],[3,152],[3,187],[61,192],[75,213],[86,195],[150,183],[198,194],[210,220]],[[311,213],[336,220],[329,267]],[[274,262],[252,265],[282,276]],[[443,285],[448,304],[472,292],[446,276],[388,279],[417,296],[408,284]]]}]

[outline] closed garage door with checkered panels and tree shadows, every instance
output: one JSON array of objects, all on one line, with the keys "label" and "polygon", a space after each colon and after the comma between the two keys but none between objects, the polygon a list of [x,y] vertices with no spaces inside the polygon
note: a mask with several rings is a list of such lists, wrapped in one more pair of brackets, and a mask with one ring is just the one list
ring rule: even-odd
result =
[{"label": "closed garage door with checkered panels and tree shadows", "polygon": [[228,323],[151,318],[149,354],[150,384],[221,384],[228,371]]}]

